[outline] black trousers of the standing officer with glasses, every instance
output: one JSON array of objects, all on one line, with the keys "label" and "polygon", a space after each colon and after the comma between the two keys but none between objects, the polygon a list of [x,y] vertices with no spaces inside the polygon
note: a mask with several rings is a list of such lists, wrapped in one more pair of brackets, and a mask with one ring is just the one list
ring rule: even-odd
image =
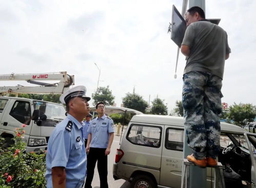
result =
[{"label": "black trousers of the standing officer with glasses", "polygon": [[94,175],[94,168],[97,161],[97,169],[100,175],[100,187],[108,188],[108,156],[105,155],[106,148],[90,148],[90,152],[87,157],[87,177],[85,182],[85,188],[91,188],[91,182]]}]

